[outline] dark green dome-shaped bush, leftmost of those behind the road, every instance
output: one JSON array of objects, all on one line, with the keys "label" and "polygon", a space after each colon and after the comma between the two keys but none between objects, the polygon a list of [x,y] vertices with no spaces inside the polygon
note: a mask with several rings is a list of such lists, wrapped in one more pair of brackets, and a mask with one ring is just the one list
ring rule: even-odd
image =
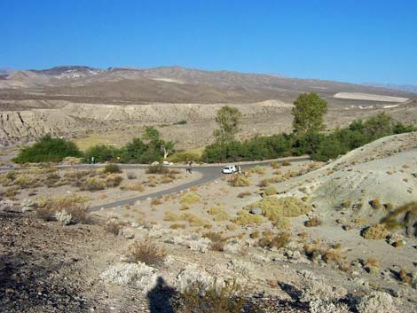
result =
[{"label": "dark green dome-shaped bush, leftmost of those behind the road", "polygon": [[82,153],[73,142],[46,135],[35,145],[20,149],[12,160],[16,163],[59,162],[68,156],[79,158]]}]

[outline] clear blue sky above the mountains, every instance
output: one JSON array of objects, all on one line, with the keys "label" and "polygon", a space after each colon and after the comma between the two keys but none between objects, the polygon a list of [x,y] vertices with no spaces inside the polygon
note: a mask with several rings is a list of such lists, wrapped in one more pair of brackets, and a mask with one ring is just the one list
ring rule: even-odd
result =
[{"label": "clear blue sky above the mountains", "polygon": [[182,66],[417,84],[417,1],[0,0],[0,67]]}]

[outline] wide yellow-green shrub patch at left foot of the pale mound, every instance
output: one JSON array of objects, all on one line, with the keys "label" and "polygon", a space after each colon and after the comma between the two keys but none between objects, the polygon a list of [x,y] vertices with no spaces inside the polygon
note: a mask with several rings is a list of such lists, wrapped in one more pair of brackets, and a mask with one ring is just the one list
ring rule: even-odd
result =
[{"label": "wide yellow-green shrub patch at left foot of the pale mound", "polygon": [[245,209],[250,210],[255,207],[260,207],[263,211],[263,215],[272,223],[280,222],[279,219],[282,217],[296,217],[311,211],[310,206],[294,197],[263,198],[262,200],[248,205]]}]

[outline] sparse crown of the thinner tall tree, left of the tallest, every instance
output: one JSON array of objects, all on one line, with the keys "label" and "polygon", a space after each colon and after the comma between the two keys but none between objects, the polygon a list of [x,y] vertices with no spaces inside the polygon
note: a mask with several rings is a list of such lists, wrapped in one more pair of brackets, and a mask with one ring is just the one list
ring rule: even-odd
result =
[{"label": "sparse crown of the thinner tall tree, left of the tallest", "polygon": [[217,111],[216,122],[220,128],[214,131],[216,142],[228,143],[234,140],[239,131],[241,116],[239,109],[232,106],[223,106]]}]

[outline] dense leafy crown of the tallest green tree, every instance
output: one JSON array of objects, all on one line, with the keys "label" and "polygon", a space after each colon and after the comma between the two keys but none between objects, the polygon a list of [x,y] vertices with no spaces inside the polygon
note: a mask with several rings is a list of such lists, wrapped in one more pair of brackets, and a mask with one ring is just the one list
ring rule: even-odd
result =
[{"label": "dense leafy crown of the tallest green tree", "polygon": [[327,113],[327,101],[314,93],[302,93],[294,102],[293,128],[297,135],[323,130],[323,117]]}]

